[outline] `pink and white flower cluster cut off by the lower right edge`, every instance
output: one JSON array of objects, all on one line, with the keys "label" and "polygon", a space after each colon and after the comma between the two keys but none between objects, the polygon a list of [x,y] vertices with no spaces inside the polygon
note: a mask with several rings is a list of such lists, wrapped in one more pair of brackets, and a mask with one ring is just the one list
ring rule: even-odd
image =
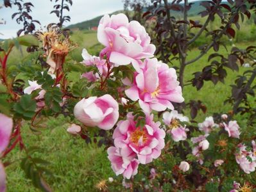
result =
[{"label": "pink and white flower cluster cut off by the lower right edge", "polygon": [[238,146],[239,151],[235,153],[235,160],[241,167],[244,173],[255,172],[256,168],[256,144],[252,141],[253,150],[247,150],[246,146],[240,143]]}]

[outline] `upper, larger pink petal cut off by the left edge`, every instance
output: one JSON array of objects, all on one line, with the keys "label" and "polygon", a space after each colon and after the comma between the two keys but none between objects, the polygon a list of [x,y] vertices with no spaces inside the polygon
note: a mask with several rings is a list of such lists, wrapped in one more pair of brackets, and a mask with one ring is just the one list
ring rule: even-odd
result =
[{"label": "upper, larger pink petal cut off by the left edge", "polygon": [[12,134],[12,118],[0,113],[0,154],[8,146]]}]

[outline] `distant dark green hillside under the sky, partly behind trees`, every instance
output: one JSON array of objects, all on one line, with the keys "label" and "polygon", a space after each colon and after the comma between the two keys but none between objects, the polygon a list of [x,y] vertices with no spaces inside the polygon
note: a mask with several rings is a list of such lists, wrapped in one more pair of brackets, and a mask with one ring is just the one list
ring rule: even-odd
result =
[{"label": "distant dark green hillside under the sky, partly behind trees", "polygon": [[[194,16],[194,15],[198,15],[198,13],[205,10],[205,8],[203,8],[203,6],[200,6],[201,1],[194,1],[192,3],[193,4],[192,4],[191,9],[189,10],[189,13],[188,13],[189,17]],[[116,14],[116,13],[121,13],[121,12],[123,12],[123,11],[117,11],[117,12],[114,12],[114,13],[110,13],[110,15]],[[175,11],[171,11],[171,14],[175,17],[178,16],[178,15],[182,15],[182,13],[175,12]],[[83,22],[79,22],[77,24],[67,26],[67,28],[69,28],[69,29],[80,29],[80,30],[90,29],[90,28],[93,28],[95,26],[98,26],[99,20],[101,19],[101,17],[103,17],[103,15],[95,17],[94,19],[85,20]]]}]

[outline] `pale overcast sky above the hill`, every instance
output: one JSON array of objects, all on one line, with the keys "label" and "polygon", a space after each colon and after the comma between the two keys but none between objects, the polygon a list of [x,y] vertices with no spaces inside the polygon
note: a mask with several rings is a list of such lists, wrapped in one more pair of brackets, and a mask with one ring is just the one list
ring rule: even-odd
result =
[{"label": "pale overcast sky above the hill", "polygon": [[[192,0],[193,1],[193,0]],[[31,16],[35,20],[39,20],[42,26],[46,26],[51,22],[58,22],[56,15],[49,14],[53,10],[55,1],[49,0],[24,0],[24,2],[31,2],[35,6],[32,8]],[[3,4],[3,0],[0,0],[0,4]],[[71,22],[65,23],[76,24],[85,20],[93,19],[99,15],[106,13],[112,13],[117,10],[123,9],[122,0],[73,0],[73,6],[69,13],[65,12],[64,15],[71,16]],[[16,10],[13,8],[2,8],[0,10],[0,21],[4,19],[6,24],[0,25],[0,38],[12,38],[16,36],[16,32],[22,28],[14,20],[12,20],[12,14]],[[37,25],[37,29],[40,26]]]}]

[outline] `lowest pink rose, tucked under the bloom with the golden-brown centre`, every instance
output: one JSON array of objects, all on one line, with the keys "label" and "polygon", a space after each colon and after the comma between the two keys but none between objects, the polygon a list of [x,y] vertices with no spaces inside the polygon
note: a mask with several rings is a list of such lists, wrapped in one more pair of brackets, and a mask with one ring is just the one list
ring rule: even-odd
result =
[{"label": "lowest pink rose, tucked under the bloom with the golden-brown centre", "polygon": [[109,147],[107,152],[112,170],[116,175],[123,174],[124,178],[130,179],[133,175],[137,174],[139,161],[135,159],[135,156],[123,157],[116,147]]}]

